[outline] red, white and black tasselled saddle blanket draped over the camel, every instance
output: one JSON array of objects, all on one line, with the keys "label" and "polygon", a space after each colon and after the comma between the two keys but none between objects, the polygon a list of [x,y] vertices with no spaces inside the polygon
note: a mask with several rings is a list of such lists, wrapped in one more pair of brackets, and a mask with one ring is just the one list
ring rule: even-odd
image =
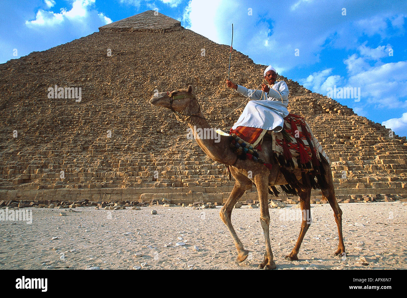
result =
[{"label": "red, white and black tasselled saddle blanket draped over the camel", "polygon": [[[258,151],[262,150],[261,142],[265,134],[269,134],[273,139],[271,158],[274,160],[274,164],[279,165],[287,182],[280,185],[283,194],[297,195],[297,190],[303,187],[313,189],[327,187],[322,159],[330,164],[329,158],[312,134],[308,123],[301,116],[288,114],[284,118],[282,131],[278,133],[243,126],[230,129],[229,146],[238,158],[251,159],[271,169],[273,165],[266,163],[258,156]],[[297,179],[294,169],[301,169],[300,180]],[[277,197],[280,191],[276,186],[270,186],[269,193]]]}]

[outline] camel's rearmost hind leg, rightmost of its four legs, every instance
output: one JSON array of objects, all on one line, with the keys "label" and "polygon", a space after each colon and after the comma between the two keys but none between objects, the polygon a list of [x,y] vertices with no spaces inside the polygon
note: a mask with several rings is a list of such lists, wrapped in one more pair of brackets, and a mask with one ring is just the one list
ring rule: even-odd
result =
[{"label": "camel's rearmost hind leg, rightmost of its four legs", "polygon": [[335,252],[335,256],[337,256],[338,254],[341,254],[341,256],[344,256],[344,255],[346,255],[346,253],[345,253],[344,238],[342,235],[342,210],[339,207],[339,204],[335,197],[335,190],[334,190],[333,179],[332,179],[332,170],[326,161],[323,161],[323,167],[325,169],[325,179],[326,179],[326,182],[328,183],[328,185],[326,188],[321,189],[322,197],[328,200],[328,202],[333,210],[333,215],[335,217],[336,225],[338,227],[339,243],[338,243],[338,250]]}]

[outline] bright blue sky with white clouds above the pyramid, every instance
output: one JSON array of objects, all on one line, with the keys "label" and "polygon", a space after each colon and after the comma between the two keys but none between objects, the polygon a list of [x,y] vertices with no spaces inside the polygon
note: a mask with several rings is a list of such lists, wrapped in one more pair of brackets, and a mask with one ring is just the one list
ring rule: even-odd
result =
[{"label": "bright blue sky with white clouds above the pyramid", "polygon": [[219,44],[234,23],[233,48],[255,63],[323,95],[360,90],[335,100],[407,135],[405,0],[1,0],[0,63],[149,9]]}]

